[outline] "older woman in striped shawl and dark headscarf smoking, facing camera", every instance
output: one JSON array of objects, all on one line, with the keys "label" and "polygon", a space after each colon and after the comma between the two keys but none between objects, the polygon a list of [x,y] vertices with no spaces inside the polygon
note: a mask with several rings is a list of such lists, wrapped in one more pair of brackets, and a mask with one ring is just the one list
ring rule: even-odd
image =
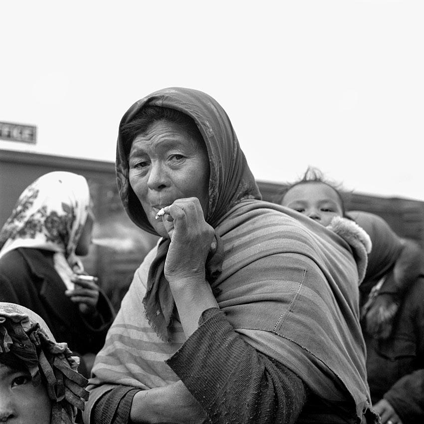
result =
[{"label": "older woman in striped shawl and dark headscarf smoking, facing camera", "polygon": [[353,250],[260,200],[213,98],[135,103],[116,166],[127,213],[162,238],[96,357],[85,423],[374,420]]}]

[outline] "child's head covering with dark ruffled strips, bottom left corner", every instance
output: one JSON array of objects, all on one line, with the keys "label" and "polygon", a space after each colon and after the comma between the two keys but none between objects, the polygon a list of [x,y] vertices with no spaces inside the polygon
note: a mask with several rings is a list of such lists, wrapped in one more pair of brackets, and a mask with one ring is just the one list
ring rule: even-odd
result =
[{"label": "child's head covering with dark ruffled strips, bottom left corner", "polygon": [[88,380],[78,371],[79,358],[57,343],[43,319],[14,303],[0,302],[0,362],[23,364],[32,384],[44,384],[52,401],[51,424],[74,423],[84,410]]}]

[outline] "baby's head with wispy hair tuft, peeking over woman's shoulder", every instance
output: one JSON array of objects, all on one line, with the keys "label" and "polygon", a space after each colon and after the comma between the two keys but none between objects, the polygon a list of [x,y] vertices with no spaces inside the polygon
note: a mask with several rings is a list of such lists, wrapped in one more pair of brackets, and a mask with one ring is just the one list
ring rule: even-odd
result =
[{"label": "baby's head with wispy hair tuft, peeking over woman's shoulder", "polygon": [[334,216],[345,216],[341,194],[325,181],[321,171],[308,167],[302,179],[288,185],[279,204],[327,226]]}]

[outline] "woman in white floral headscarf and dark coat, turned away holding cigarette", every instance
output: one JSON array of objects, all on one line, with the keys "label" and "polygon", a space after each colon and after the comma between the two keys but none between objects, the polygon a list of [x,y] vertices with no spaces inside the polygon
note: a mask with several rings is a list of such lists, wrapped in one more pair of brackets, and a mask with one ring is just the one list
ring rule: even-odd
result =
[{"label": "woman in white floral headscarf and dark coat, turned away holding cigarette", "polygon": [[56,340],[82,356],[87,377],[114,318],[95,281],[82,279],[77,255],[88,253],[92,226],[87,181],[57,171],[23,191],[0,231],[0,301],[41,316]]}]

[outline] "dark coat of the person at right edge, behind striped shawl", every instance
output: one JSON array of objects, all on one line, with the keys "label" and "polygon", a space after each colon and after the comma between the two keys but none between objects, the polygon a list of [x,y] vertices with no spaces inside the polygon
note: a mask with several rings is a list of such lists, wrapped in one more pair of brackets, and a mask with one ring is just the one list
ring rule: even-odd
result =
[{"label": "dark coat of the person at right edge, behind striped shawl", "polygon": [[364,334],[373,403],[386,399],[405,423],[424,423],[424,277],[407,292],[388,339]]}]

